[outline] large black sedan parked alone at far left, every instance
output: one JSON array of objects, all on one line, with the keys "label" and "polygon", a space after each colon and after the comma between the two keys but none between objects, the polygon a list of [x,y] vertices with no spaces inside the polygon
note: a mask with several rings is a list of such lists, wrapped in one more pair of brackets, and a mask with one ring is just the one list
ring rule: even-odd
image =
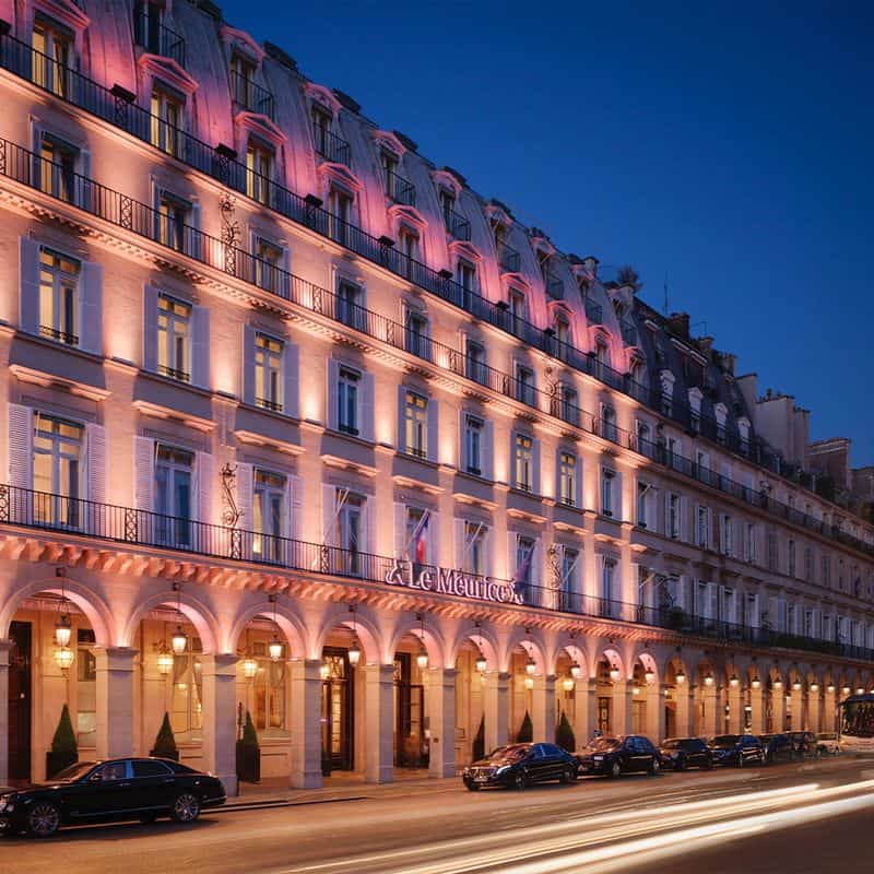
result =
[{"label": "large black sedan parked alone at far left", "polygon": [[60,826],[170,816],[193,823],[205,807],[225,803],[222,781],[164,758],[79,761],[45,783],[0,795],[0,834],[37,838]]}]

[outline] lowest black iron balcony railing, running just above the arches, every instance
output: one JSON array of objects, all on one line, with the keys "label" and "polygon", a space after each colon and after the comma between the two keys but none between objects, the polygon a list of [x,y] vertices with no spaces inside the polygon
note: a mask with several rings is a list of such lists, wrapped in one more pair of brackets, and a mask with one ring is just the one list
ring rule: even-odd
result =
[{"label": "lowest black iron balcony railing, running just above the arches", "polygon": [[[206,558],[246,562],[273,569],[341,579],[351,578],[376,584],[385,583],[399,566],[399,560],[394,557],[8,484],[0,484],[0,524],[70,536],[95,538],[128,546],[173,550]],[[401,560],[400,567],[404,574],[410,570],[406,560]],[[434,566],[413,567],[417,576],[425,570],[430,571],[435,580],[439,576],[439,569]],[[472,586],[465,587],[465,590],[475,592],[477,586],[485,588],[489,582],[497,583],[504,587],[505,591],[513,592],[521,601],[521,605],[536,610],[645,625],[731,643],[782,647],[874,660],[874,651],[865,647],[723,622],[687,613],[668,604],[661,606],[631,604],[577,591],[538,586],[523,580],[499,580],[466,572],[463,576],[472,581]],[[442,595],[435,594],[435,597]]]}]

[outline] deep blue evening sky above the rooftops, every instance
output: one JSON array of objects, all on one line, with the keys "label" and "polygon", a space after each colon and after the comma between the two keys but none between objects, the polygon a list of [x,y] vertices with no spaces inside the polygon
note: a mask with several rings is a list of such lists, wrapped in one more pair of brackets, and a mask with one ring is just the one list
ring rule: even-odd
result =
[{"label": "deep blue evening sky above the rooftops", "polygon": [[874,463],[874,4],[221,5]]}]

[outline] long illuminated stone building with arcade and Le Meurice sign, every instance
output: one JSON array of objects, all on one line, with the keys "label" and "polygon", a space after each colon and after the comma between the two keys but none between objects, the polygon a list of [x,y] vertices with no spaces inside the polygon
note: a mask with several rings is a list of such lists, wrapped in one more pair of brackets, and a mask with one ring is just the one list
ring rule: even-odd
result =
[{"label": "long illuminated stone building with arcade and Le Meurice sign", "polygon": [[212,3],[0,17],[0,784],[64,701],[233,789],[239,705],[311,787],[871,686],[874,529],[688,316]]}]

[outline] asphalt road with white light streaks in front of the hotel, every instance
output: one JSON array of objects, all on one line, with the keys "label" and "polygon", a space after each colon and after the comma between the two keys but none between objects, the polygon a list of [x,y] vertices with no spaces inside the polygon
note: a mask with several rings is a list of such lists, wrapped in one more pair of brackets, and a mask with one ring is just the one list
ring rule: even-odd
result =
[{"label": "asphalt road with white light streaks in front of the hotel", "polygon": [[[363,787],[362,794],[367,794]],[[874,760],[835,759],[523,792],[460,781],[356,801],[0,840],[11,874],[834,874],[874,869]],[[50,867],[51,866],[51,867]]]}]

